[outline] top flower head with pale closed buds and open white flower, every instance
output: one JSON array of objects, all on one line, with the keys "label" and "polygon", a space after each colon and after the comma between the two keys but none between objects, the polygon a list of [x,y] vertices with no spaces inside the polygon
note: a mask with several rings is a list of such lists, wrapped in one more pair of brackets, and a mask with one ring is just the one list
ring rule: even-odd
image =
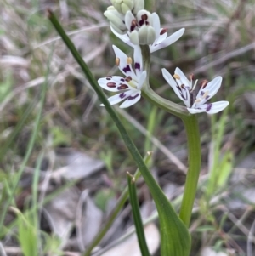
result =
[{"label": "top flower head with pale closed buds and open white flower", "polygon": [[148,44],[153,53],[176,42],[184,34],[182,28],[167,37],[158,14],[145,10],[143,0],[112,0],[111,3],[113,5],[105,11],[111,31],[132,47]]}]

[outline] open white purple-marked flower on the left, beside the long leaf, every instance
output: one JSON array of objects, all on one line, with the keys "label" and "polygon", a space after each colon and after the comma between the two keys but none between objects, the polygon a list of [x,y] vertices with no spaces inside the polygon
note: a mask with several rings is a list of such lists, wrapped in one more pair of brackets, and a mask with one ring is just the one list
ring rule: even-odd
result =
[{"label": "open white purple-marked flower on the left, beside the long leaf", "polygon": [[116,54],[116,65],[125,77],[109,76],[100,78],[98,82],[101,88],[111,92],[118,92],[118,94],[108,98],[111,105],[123,101],[120,107],[126,108],[140,100],[141,88],[146,79],[146,71],[143,71],[143,60],[139,46],[134,48],[134,71],[132,68],[132,58],[127,57],[115,45],[113,45],[113,50]]}]

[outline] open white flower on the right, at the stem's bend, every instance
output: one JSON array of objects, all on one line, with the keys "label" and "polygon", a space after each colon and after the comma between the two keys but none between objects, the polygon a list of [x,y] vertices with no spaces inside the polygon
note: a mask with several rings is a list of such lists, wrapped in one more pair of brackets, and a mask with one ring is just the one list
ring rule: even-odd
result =
[{"label": "open white flower on the right, at the stem's bend", "polygon": [[175,94],[178,95],[178,98],[184,101],[190,114],[201,112],[215,114],[219,111],[223,111],[224,108],[229,105],[229,101],[225,100],[207,103],[207,100],[210,100],[217,94],[221,86],[222,77],[215,77],[211,82],[207,82],[206,80],[202,81],[200,84],[201,88],[196,94],[195,87],[198,81],[193,81],[194,77],[192,74],[190,75],[190,80],[185,77],[184,73],[179,68],[175,69],[173,75],[175,80],[166,69],[162,69],[162,74],[168,84],[173,88]]}]

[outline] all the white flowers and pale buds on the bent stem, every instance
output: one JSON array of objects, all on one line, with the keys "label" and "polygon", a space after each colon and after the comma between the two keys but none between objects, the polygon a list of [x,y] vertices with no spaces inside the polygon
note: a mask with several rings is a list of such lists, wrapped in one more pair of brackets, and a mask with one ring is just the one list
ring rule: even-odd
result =
[{"label": "all the white flowers and pale buds on the bent stem", "polygon": [[[133,47],[133,60],[127,57],[119,48],[113,46],[116,54],[116,65],[125,77],[110,76],[99,79],[99,86],[111,92],[117,92],[108,100],[111,105],[122,102],[121,108],[135,104],[141,98],[141,92],[147,72],[143,69],[143,57],[140,45],[148,45],[150,53],[165,48],[176,42],[183,34],[184,28],[167,37],[167,30],[161,28],[158,14],[144,9],[144,0],[111,0],[112,5],[105,11],[105,17],[110,20],[111,31],[124,43]],[[132,67],[133,64],[133,67]],[[216,77],[211,82],[200,82],[200,89],[195,90],[198,80],[194,76],[190,80],[176,68],[172,75],[162,69],[163,77],[173,88],[180,100],[184,101],[190,114],[207,112],[217,113],[229,105],[228,101],[207,103],[221,86],[222,77]]]}]

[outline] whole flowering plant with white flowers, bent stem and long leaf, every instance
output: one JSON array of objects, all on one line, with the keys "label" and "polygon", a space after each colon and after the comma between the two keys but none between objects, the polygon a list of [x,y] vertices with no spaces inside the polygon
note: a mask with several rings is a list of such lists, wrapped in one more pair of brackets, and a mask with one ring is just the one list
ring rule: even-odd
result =
[{"label": "whole flowering plant with white flowers, bent stem and long leaf", "polygon": [[[216,77],[212,82],[202,81],[200,83],[201,88],[197,91],[196,85],[198,80],[194,82],[192,74],[189,80],[179,68],[176,68],[173,77],[166,69],[162,69],[163,77],[173,88],[178,98],[184,101],[185,106],[161,98],[150,88],[150,54],[176,42],[183,35],[184,28],[167,37],[167,30],[161,28],[158,14],[150,14],[149,11],[144,9],[144,0],[111,0],[111,3],[112,6],[105,11],[105,16],[110,20],[111,31],[122,39],[124,43],[133,47],[134,54],[132,59],[124,54],[122,50],[113,46],[116,54],[116,65],[122,71],[124,77],[109,76],[98,80],[101,88],[117,93],[108,98],[108,100],[96,84],[88,66],[84,63],[80,54],[77,53],[77,49],[73,46],[69,37],[66,36],[65,31],[59,25],[54,14],[50,11],[49,19],[67,47],[71,50],[78,64],[82,67],[82,71],[88,77],[88,82],[91,83],[98,94],[99,100],[102,102],[101,105],[105,106],[106,111],[108,111],[116,123],[122,139],[127,145],[127,149],[133,156],[133,160],[137,163],[150,189],[160,220],[161,255],[185,256],[190,253],[190,234],[187,228],[190,225],[190,217],[201,168],[200,134],[198,122],[194,114],[200,112],[207,112],[208,114],[217,113],[229,105],[228,101],[207,103],[207,100],[210,100],[218,92],[222,77]],[[181,118],[184,122],[188,141],[189,169],[179,217],[159,185],[157,185],[156,180],[153,179],[122,122],[116,116],[116,112],[111,108],[111,105],[118,103],[121,103],[121,108],[129,107],[137,103],[141,96],[150,100],[154,105]]]}]

